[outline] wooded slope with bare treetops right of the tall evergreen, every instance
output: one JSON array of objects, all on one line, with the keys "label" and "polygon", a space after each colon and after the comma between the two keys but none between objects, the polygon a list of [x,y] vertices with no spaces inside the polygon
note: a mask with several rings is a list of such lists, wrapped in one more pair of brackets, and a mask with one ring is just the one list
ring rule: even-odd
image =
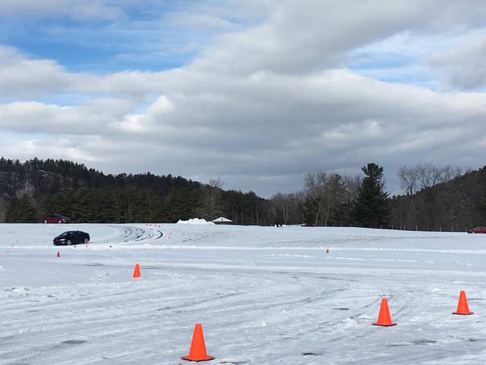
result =
[{"label": "wooded slope with bare treetops right of the tall evergreen", "polygon": [[403,166],[397,175],[405,194],[390,202],[395,228],[464,231],[486,225],[486,166],[463,172],[417,163]]}]

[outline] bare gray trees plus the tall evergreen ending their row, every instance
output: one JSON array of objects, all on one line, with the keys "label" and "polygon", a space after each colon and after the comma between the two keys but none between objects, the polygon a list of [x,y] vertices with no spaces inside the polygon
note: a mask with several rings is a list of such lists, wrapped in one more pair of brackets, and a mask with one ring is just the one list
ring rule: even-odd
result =
[{"label": "bare gray trees plus the tall evergreen ending their row", "polygon": [[299,192],[271,197],[271,209],[283,224],[388,227],[390,206],[383,168],[368,163],[362,172],[364,177],[309,172]]}]

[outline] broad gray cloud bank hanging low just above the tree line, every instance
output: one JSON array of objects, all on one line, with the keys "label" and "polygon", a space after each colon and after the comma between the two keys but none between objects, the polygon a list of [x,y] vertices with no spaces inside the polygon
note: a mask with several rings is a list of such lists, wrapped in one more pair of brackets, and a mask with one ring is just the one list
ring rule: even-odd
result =
[{"label": "broad gray cloud bank hanging low just above the tree line", "polygon": [[[3,130],[58,135],[6,151],[84,156],[81,161],[117,172],[149,169],[229,181],[237,176],[235,183],[244,180],[237,186],[260,181],[253,189],[265,194],[276,181],[287,188],[286,176],[317,168],[358,171],[367,161],[383,161],[391,170],[405,161],[460,163],[468,156],[470,163],[482,163],[477,151],[486,147],[485,140],[475,139],[486,132],[480,124],[486,117],[482,94],[431,92],[344,70],[305,78],[260,75],[242,82],[244,88],[235,82],[231,94],[225,83],[211,82],[214,76],[200,77],[201,83],[194,83],[198,92],[186,95],[169,72],[171,93],[144,113],[133,113],[133,105],[122,99],[73,108],[3,104]],[[464,140],[469,142],[459,149]],[[71,149],[49,150],[49,145]]]}]

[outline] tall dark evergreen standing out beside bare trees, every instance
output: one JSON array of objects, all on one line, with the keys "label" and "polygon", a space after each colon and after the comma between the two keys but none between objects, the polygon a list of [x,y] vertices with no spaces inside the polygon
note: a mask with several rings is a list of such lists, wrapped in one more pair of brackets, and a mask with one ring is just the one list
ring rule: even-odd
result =
[{"label": "tall dark evergreen standing out beside bare trees", "polygon": [[382,227],[388,224],[389,202],[383,182],[383,168],[368,163],[361,169],[364,179],[358,189],[355,204],[355,220],[363,227]]}]

